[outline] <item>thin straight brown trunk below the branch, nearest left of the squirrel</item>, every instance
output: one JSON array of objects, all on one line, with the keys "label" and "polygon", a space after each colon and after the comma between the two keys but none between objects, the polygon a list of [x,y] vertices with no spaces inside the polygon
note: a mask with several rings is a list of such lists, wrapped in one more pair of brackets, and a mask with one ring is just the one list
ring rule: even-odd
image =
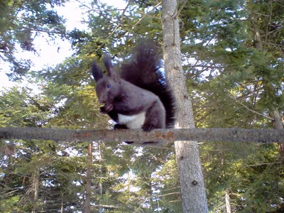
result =
[{"label": "thin straight brown trunk below the branch, nearest left of the squirrel", "polygon": [[86,183],[85,213],[91,212],[91,187],[92,187],[92,142],[89,142],[88,158],[87,158],[87,183]]}]

